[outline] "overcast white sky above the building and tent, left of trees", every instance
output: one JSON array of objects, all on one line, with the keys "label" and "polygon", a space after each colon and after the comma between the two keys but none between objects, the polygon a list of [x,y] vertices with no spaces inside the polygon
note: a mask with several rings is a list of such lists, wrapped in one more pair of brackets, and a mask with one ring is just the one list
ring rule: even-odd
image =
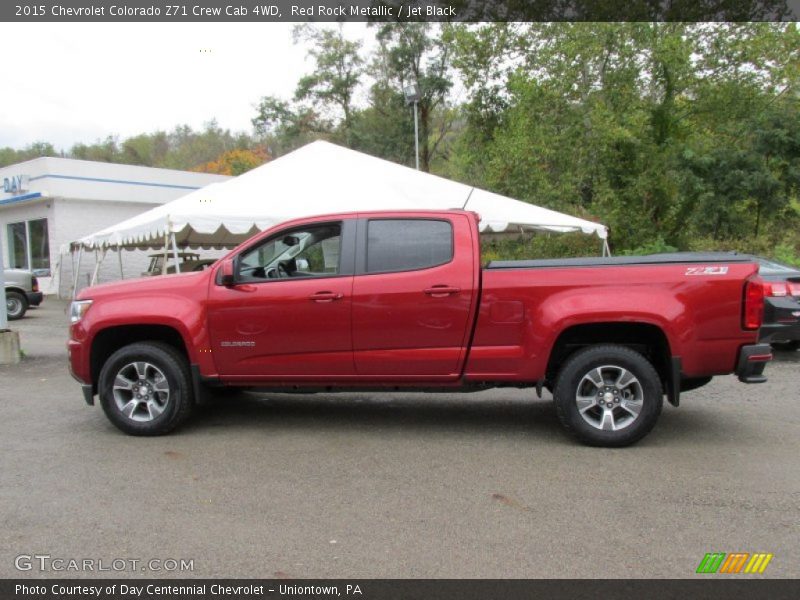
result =
[{"label": "overcast white sky above the building and tent, left of trees", "polygon": [[[345,24],[366,39],[364,24]],[[264,95],[290,97],[311,70],[288,23],[2,23],[0,147],[68,150],[216,118],[250,131]]]}]

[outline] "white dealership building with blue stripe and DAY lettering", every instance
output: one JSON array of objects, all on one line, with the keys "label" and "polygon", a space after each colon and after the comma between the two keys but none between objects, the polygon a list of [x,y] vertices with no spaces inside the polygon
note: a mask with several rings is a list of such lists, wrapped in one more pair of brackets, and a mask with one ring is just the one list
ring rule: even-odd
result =
[{"label": "white dealership building with blue stripe and DAY lettering", "polygon": [[[37,158],[0,168],[3,262],[33,270],[45,293],[69,294],[75,265],[65,255],[59,268],[62,245],[226,179],[68,158]],[[126,252],[123,265],[125,277],[138,276],[147,267],[147,254]],[[79,288],[93,270],[94,257],[85,256]],[[119,276],[119,262],[106,260],[100,281]]]}]

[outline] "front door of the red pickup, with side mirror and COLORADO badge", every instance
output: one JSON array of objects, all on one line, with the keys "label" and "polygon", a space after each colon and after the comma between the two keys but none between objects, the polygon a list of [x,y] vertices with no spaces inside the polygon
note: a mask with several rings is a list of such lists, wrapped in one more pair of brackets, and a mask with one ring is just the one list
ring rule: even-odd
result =
[{"label": "front door of the red pickup, with side mirror and COLORADO badge", "polygon": [[254,243],[234,283],[211,283],[209,332],[223,379],[353,375],[355,220],[314,222]]}]

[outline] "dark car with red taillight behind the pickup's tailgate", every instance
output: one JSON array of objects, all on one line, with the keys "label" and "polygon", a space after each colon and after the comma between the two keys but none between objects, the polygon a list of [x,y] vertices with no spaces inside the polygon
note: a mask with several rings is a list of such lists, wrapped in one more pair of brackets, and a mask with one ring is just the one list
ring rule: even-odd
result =
[{"label": "dark car with red taillight behind the pickup's tailgate", "polygon": [[759,341],[776,350],[800,348],[800,268],[758,258],[764,280],[764,324]]}]

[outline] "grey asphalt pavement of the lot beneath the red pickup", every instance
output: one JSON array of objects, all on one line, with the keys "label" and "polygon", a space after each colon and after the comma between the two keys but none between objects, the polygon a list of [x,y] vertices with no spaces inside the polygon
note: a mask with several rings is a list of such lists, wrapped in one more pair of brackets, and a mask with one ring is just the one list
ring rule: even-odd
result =
[{"label": "grey asphalt pavement of the lot beneath the red pickup", "polygon": [[708,552],[800,575],[800,352],[624,449],[507,389],[243,393],[135,438],[69,376],[65,309],[13,322],[0,366],[0,577],[691,578]]}]

